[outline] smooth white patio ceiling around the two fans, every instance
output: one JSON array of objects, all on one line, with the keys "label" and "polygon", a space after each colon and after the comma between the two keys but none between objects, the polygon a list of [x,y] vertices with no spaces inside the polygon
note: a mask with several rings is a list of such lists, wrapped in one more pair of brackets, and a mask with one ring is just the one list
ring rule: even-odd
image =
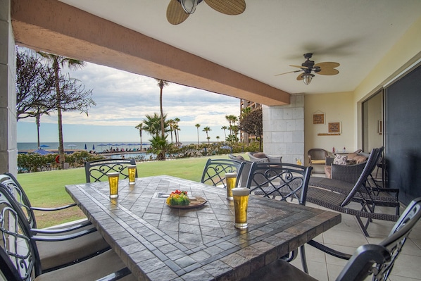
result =
[{"label": "smooth white patio ceiling around the two fans", "polygon": [[[169,0],[60,0],[144,35],[293,93],[353,91],[420,17],[420,0],[246,0],[241,15],[206,3],[180,25],[166,19]],[[339,75],[297,81],[303,54],[340,63]]]}]

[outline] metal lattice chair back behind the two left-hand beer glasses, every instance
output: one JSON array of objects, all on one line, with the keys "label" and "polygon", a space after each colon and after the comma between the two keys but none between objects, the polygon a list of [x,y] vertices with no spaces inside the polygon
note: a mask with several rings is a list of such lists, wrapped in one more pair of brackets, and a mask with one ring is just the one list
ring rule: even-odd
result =
[{"label": "metal lattice chair back behind the two left-hand beer glasses", "polygon": [[[122,178],[129,177],[127,166],[136,165],[134,159],[101,159],[84,163],[87,182],[99,182],[107,177],[107,173],[120,173]],[[137,170],[136,175],[137,177]]]}]

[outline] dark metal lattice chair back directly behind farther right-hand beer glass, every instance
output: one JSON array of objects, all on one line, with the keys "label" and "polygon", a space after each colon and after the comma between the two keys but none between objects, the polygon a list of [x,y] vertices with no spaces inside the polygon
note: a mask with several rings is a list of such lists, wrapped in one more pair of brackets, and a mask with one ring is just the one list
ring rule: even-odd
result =
[{"label": "dark metal lattice chair back directly behind farther right-hand beer glass", "polygon": [[237,173],[237,185],[241,179],[244,162],[235,159],[208,159],[201,182],[215,187],[222,186],[227,188],[225,182],[225,173]]}]

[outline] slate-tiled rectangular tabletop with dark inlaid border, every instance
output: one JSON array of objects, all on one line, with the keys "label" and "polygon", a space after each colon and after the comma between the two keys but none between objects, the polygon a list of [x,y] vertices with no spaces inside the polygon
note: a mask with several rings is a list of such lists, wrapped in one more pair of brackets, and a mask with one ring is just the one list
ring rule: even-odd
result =
[{"label": "slate-tiled rectangular tabletop with dark inlaid border", "polygon": [[[178,209],[165,204],[175,189],[208,202]],[[66,190],[139,280],[241,280],[341,222],[341,215],[250,196],[247,230],[234,227],[225,189],[177,177],[68,185]]]}]

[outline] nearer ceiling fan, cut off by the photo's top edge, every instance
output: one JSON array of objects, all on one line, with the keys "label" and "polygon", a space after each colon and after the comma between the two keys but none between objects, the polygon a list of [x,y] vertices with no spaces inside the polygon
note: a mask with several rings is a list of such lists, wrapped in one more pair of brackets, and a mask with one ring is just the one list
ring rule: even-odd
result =
[{"label": "nearer ceiling fan, cut off by the photo's top edge", "polygon": [[[187,20],[196,11],[197,4],[203,0],[170,0],[167,7],[167,20],[172,25],[178,25]],[[246,10],[245,0],[204,0],[215,11],[225,15],[239,15]]]}]

